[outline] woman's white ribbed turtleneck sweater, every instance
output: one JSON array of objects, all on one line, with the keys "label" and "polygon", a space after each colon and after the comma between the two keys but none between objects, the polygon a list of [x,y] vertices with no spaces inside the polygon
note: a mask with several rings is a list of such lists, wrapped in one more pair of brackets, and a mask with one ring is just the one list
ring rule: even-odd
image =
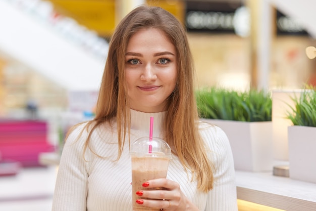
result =
[{"label": "woman's white ribbed turtleneck sweater", "polygon": [[[131,142],[149,136],[150,116],[154,117],[153,137],[161,137],[161,125],[165,112],[142,113],[131,110]],[[108,124],[99,127],[91,137],[90,146],[100,156],[88,149],[83,158],[83,145],[87,132],[81,136],[80,126],[68,137],[59,165],[53,211],[131,211],[131,160],[128,142],[122,157],[116,159],[118,145],[116,122],[114,130]],[[208,193],[197,190],[197,183],[190,178],[179,159],[173,156],[167,178],[180,184],[182,192],[201,211],[236,211],[237,197],[233,157],[225,133],[217,126],[200,122],[200,133],[210,151],[214,163],[214,188]],[[79,136],[78,141],[77,138]]]}]

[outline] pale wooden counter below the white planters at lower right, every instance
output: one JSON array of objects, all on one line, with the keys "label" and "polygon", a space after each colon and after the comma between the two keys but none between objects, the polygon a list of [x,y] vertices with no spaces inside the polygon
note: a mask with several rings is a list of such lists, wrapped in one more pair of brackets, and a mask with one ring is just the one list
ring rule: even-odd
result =
[{"label": "pale wooden counter below the white planters at lower right", "polygon": [[287,211],[315,211],[316,184],[236,171],[238,199]]}]

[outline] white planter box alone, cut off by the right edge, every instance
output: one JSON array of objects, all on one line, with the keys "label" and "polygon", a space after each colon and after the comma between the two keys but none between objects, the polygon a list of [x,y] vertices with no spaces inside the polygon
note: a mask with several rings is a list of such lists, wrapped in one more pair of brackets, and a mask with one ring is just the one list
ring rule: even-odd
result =
[{"label": "white planter box alone, cut off by the right edge", "polygon": [[288,141],[290,178],[316,183],[316,128],[289,126]]}]

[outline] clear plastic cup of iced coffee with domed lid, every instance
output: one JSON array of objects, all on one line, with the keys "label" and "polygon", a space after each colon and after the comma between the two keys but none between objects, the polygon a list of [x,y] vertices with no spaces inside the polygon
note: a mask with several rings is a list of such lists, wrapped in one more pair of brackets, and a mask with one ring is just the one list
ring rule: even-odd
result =
[{"label": "clear plastic cup of iced coffee with domed lid", "polygon": [[[148,150],[149,148],[151,150]],[[160,208],[146,207],[136,203],[137,199],[145,199],[144,197],[136,195],[136,191],[152,190],[150,188],[142,187],[142,184],[148,180],[166,178],[170,156],[170,147],[162,139],[153,138],[153,140],[149,142],[148,138],[142,138],[132,144],[133,211],[161,210]]]}]

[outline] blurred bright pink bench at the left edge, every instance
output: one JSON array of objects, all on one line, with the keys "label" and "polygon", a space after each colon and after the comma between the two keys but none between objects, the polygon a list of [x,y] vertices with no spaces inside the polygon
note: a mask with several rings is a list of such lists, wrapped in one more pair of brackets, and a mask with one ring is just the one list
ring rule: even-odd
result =
[{"label": "blurred bright pink bench at the left edge", "polygon": [[39,153],[51,151],[55,147],[47,141],[46,121],[0,120],[0,162],[40,166]]}]

